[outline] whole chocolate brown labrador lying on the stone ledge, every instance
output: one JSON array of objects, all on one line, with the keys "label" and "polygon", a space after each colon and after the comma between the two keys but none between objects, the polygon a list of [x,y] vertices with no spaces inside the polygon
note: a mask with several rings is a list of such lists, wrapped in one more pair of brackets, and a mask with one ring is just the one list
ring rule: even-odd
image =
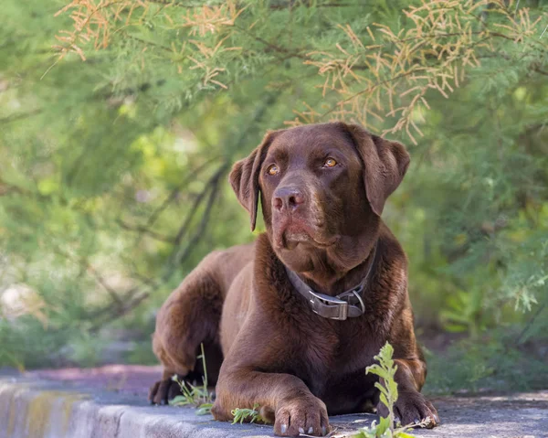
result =
[{"label": "whole chocolate brown labrador lying on the stone ledge", "polygon": [[209,254],[163,304],[153,349],[164,372],[150,400],[176,395],[174,374],[199,379],[204,343],[217,420],[258,405],[278,435],[324,435],[328,414],[374,405],[386,414],[365,367],[389,341],[395,415],[436,425],[437,411],[420,393],[427,366],[406,254],[381,219],[408,165],[402,144],[357,125],[269,132],[230,174],[251,230],[260,198],[266,233]]}]

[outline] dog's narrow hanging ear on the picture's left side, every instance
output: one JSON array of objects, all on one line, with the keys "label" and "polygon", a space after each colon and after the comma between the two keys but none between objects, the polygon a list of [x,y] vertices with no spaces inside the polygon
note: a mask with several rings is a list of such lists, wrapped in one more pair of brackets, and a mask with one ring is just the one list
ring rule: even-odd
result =
[{"label": "dog's narrow hanging ear on the picture's left side", "polygon": [[232,166],[228,179],[232,189],[236,193],[239,203],[248,210],[251,218],[251,231],[255,230],[258,208],[258,173],[260,166],[267,155],[269,145],[276,134],[276,131],[269,131],[247,158],[238,161]]}]

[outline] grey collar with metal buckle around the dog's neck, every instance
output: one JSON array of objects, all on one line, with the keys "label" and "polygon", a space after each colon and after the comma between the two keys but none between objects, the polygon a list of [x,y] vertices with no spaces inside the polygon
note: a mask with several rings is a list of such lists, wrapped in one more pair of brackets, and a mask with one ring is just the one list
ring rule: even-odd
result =
[{"label": "grey collar with metal buckle around the dog's neck", "polygon": [[371,262],[369,263],[367,273],[362,282],[352,289],[336,296],[315,292],[307,283],[304,283],[300,279],[300,276],[297,275],[297,273],[291,271],[287,266],[286,272],[288,272],[290,283],[293,287],[311,304],[312,312],[323,316],[324,318],[344,321],[346,318],[355,318],[364,315],[365,304],[362,293],[369,280],[369,275],[371,274],[375,260],[376,243],[373,248],[373,257],[371,257]]}]

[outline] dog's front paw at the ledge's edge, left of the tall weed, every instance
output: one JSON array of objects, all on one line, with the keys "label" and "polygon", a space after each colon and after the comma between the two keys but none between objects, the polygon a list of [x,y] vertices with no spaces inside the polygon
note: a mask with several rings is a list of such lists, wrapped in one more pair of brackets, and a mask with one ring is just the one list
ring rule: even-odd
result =
[{"label": "dog's front paw at the ledge's edge, left of the tall weed", "polygon": [[279,436],[324,436],[329,430],[325,403],[316,397],[288,401],[276,411],[274,433]]}]

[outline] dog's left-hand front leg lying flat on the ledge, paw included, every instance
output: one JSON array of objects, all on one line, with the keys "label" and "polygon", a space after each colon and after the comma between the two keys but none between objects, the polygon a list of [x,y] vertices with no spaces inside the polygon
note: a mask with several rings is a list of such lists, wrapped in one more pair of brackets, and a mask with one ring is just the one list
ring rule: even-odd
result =
[{"label": "dog's left-hand front leg lying flat on the ledge, paw included", "polygon": [[328,433],[325,403],[313,396],[301,379],[284,373],[227,368],[221,369],[216,386],[216,401],[212,409],[216,420],[232,420],[232,410],[251,409],[258,405],[261,417],[274,422],[277,435],[307,433],[322,436]]}]

